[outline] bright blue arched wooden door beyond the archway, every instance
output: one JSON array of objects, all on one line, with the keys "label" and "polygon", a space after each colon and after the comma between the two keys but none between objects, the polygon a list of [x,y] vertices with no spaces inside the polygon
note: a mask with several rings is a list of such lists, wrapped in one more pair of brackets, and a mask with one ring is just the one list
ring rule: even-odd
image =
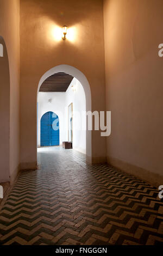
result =
[{"label": "bright blue arched wooden door beyond the archway", "polygon": [[41,118],[41,146],[55,145],[59,145],[59,118],[50,111]]}]

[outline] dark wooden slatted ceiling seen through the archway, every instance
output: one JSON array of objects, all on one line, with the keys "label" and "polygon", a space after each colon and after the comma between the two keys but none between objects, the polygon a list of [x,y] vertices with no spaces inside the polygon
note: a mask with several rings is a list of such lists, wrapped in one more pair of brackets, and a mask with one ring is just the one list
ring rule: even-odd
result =
[{"label": "dark wooden slatted ceiling seen through the archway", "polygon": [[69,74],[64,72],[56,73],[43,81],[40,92],[66,92],[72,80],[73,76]]}]

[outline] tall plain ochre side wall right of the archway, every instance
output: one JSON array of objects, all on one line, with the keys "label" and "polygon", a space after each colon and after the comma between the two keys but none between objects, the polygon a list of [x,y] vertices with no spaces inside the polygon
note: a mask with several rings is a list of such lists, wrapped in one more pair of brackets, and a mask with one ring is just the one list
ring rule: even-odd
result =
[{"label": "tall plain ochre side wall right of the archway", "polygon": [[156,184],[163,175],[162,9],[162,0],[104,1],[108,162]]}]

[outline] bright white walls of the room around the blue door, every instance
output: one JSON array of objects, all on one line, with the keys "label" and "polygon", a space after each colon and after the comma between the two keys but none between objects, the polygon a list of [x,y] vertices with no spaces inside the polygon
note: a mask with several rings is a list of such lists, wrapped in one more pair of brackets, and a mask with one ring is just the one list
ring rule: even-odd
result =
[{"label": "bright white walls of the room around the blue door", "polygon": [[[76,88],[73,92],[72,85]],[[59,117],[60,145],[68,141],[68,105],[73,103],[73,148],[86,153],[86,111],[85,92],[82,84],[73,78],[66,93],[38,94],[38,123],[37,145],[40,147],[40,122],[41,117],[48,111],[56,113]],[[80,113],[78,115],[77,113]]]}]

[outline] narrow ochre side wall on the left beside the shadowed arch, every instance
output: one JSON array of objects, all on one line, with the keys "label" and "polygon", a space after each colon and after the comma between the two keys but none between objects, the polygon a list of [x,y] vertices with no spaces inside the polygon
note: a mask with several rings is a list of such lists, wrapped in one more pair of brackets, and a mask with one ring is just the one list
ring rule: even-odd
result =
[{"label": "narrow ochre side wall on the left beside the shadowed arch", "polygon": [[[19,0],[0,0],[0,36],[4,38],[7,46],[10,71],[10,92],[6,99],[9,107],[9,147],[5,161],[9,164],[9,178],[11,182],[15,179],[19,168],[19,83],[20,83],[20,2]],[[1,67],[0,67],[1,68]],[[1,87],[2,89],[2,87]],[[10,99],[10,102],[9,102]],[[3,121],[3,120],[1,120]],[[10,157],[8,157],[8,155]],[[1,166],[1,172],[3,167]]]}]

